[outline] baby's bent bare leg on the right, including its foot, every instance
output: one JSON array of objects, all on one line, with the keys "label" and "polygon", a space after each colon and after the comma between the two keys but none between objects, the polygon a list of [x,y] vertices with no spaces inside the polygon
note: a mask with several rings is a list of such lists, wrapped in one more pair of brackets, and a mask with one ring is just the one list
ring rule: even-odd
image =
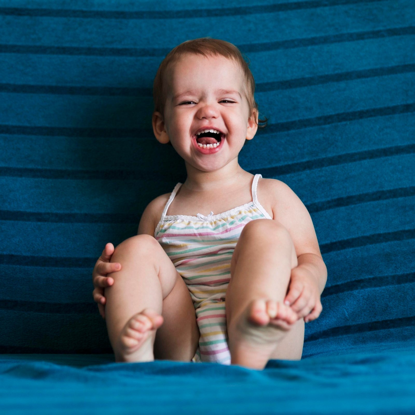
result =
[{"label": "baby's bent bare leg on the right, including its foot", "polygon": [[269,359],[301,359],[304,320],[283,304],[297,265],[291,235],[279,222],[258,219],[244,227],[226,292],[232,364],[263,369]]}]

